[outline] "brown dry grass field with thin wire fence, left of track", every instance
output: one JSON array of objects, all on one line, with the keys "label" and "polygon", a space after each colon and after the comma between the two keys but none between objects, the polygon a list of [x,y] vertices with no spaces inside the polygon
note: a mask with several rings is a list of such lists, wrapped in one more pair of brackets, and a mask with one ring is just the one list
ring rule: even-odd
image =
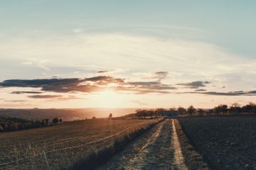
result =
[{"label": "brown dry grass field with thin wire fence, left of track", "polygon": [[[75,147],[57,152],[54,149],[81,145],[102,139],[124,129],[139,125],[137,130],[156,120],[81,120],[63,123],[49,128],[23,130],[0,134],[0,164],[23,157],[35,156],[21,162],[14,162],[0,169],[70,169],[82,159],[92,157],[94,153],[111,148],[114,141],[122,139],[136,129],[128,130],[110,139],[95,142],[92,145]],[[46,157],[40,154],[46,151]],[[46,160],[47,158],[47,160]],[[48,163],[48,164],[47,164]]]}]

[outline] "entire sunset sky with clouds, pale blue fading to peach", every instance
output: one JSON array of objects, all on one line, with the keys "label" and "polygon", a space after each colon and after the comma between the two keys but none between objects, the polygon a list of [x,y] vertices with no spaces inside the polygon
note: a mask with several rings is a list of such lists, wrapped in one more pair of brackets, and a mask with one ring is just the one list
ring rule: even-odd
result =
[{"label": "entire sunset sky with clouds, pale blue fading to peach", "polygon": [[2,0],[0,108],[256,99],[256,1]]}]

